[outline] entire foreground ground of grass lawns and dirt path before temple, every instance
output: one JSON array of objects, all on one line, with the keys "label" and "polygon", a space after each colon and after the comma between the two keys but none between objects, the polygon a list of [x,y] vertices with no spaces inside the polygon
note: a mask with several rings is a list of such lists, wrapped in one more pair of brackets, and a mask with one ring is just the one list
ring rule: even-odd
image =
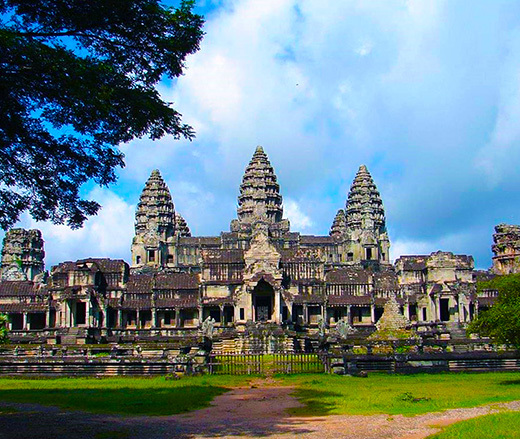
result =
[{"label": "entire foreground ground of grass lawns and dirt path before temple", "polygon": [[6,438],[445,439],[519,431],[519,373],[0,380]]}]

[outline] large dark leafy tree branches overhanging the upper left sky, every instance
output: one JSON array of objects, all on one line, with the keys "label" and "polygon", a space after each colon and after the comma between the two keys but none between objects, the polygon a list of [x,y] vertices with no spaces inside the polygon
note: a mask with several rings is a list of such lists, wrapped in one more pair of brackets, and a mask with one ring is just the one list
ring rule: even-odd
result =
[{"label": "large dark leafy tree branches overhanging the upper left sky", "polygon": [[81,227],[123,167],[118,145],[192,128],[155,86],[199,49],[193,1],[0,0],[0,227],[24,211]]}]

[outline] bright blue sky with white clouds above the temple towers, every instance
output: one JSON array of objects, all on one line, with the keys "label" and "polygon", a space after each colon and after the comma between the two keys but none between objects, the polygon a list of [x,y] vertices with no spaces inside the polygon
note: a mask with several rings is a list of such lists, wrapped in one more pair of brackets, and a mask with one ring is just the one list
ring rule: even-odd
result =
[{"label": "bright blue sky with white clouds above the temple towers", "polygon": [[161,170],[196,235],[236,215],[256,145],[275,167],[293,230],[327,234],[366,164],[392,257],[446,250],[491,264],[493,226],[520,223],[520,2],[199,0],[201,50],[162,84],[197,138],[134,141],[78,231],[37,224],[47,265],[130,259],[135,206]]}]

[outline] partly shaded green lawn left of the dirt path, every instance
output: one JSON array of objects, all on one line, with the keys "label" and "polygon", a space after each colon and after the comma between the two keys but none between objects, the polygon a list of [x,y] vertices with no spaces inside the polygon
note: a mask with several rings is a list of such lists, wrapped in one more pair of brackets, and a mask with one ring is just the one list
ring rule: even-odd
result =
[{"label": "partly shaded green lawn left of the dirt path", "polygon": [[0,401],[58,406],[66,410],[121,415],[173,415],[206,407],[246,378],[0,379]]}]

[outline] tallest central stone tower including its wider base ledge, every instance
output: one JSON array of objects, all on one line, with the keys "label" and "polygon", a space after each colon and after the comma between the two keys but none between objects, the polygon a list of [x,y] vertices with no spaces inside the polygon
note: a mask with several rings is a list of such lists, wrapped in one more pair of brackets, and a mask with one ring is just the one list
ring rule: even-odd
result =
[{"label": "tallest central stone tower including its wider base ledge", "polygon": [[280,186],[267,154],[257,146],[247,166],[238,196],[238,219],[231,222],[231,231],[250,235],[259,220],[267,223],[271,236],[289,231],[289,221],[282,219]]}]

